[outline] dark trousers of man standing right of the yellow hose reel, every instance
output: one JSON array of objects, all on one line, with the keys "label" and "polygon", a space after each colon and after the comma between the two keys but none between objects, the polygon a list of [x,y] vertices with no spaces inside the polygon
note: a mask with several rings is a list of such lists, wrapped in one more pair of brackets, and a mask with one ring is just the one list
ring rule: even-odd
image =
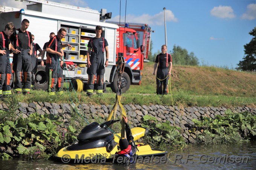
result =
[{"label": "dark trousers of man standing right of the yellow hose reel", "polygon": [[97,93],[103,93],[103,75],[105,73],[105,67],[104,67],[104,54],[96,54],[91,52],[90,57],[91,66],[90,68],[87,68],[87,74],[88,74],[88,83],[87,83],[87,94],[93,93],[94,89],[94,80],[95,76],[97,74],[97,84],[96,84],[96,90]]}]

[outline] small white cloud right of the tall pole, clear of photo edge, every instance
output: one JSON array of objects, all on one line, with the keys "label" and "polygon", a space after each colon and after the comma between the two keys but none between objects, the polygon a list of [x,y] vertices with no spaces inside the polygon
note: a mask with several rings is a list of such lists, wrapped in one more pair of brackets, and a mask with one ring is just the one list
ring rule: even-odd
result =
[{"label": "small white cloud right of the tall pole, clear of photo edge", "polygon": [[234,11],[231,6],[218,6],[214,7],[210,14],[218,18],[235,18]]}]

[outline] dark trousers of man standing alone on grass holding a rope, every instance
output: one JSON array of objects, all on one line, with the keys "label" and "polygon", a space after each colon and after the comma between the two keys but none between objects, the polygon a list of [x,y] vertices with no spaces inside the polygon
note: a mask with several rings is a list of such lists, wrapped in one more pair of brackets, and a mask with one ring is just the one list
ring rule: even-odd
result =
[{"label": "dark trousers of man standing alone on grass holding a rope", "polygon": [[[169,93],[168,91],[168,76],[169,69],[164,68],[160,69],[157,68],[157,94],[158,95],[166,95]],[[167,77],[168,76],[168,77]]]}]

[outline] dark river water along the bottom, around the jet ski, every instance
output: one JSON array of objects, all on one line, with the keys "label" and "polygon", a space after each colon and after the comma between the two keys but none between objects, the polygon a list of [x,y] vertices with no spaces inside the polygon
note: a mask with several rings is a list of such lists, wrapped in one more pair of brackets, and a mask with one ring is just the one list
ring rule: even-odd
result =
[{"label": "dark river water along the bottom, around the jet ski", "polygon": [[256,141],[242,145],[191,145],[186,151],[171,152],[165,163],[64,164],[52,160],[28,161],[25,156],[0,160],[1,170],[255,170]]}]

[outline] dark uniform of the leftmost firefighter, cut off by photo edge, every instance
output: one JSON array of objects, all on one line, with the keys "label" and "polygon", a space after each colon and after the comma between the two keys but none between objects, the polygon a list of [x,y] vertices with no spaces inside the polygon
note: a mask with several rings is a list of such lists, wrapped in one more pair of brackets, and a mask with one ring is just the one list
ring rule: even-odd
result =
[{"label": "dark uniform of the leftmost firefighter, cut off by photo edge", "polygon": [[9,56],[9,37],[5,32],[0,32],[0,50],[5,50],[6,54],[0,54],[0,98],[11,95],[12,68]]}]

